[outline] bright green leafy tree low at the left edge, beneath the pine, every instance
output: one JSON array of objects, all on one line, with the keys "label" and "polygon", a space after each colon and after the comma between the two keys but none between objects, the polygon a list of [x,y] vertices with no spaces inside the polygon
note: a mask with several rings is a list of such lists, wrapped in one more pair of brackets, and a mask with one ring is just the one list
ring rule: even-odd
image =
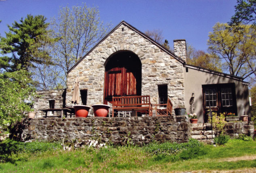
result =
[{"label": "bright green leafy tree low at the left edge, beneath the pine", "polygon": [[24,101],[34,97],[35,89],[28,76],[26,70],[20,69],[0,73],[0,128],[3,130],[30,110]]}]

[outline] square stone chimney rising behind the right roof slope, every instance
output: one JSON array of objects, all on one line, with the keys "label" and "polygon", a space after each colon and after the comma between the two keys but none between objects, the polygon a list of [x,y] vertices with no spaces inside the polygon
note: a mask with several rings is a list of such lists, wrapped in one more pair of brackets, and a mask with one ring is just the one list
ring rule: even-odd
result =
[{"label": "square stone chimney rising behind the right roof slope", "polygon": [[187,62],[186,40],[185,39],[173,40],[173,48],[174,48],[174,54],[180,57],[181,59],[183,59],[185,62]]}]

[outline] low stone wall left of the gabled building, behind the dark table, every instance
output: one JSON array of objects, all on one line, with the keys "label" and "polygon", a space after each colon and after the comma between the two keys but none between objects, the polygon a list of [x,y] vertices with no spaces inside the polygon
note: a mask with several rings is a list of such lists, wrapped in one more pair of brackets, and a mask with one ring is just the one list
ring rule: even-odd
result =
[{"label": "low stone wall left of the gabled building, behind the dark table", "polygon": [[[66,89],[53,89],[36,91],[38,97],[34,99],[34,110],[36,118],[41,117],[40,109],[49,109],[49,100],[55,100],[54,108],[66,107]],[[54,112],[56,114],[56,112]]]}]

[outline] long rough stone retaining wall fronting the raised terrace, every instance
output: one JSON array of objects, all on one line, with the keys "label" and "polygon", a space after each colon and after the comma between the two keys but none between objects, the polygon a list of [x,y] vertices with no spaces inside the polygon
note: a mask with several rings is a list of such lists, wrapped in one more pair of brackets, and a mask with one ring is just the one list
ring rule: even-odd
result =
[{"label": "long rough stone retaining wall fronting the raised terrace", "polygon": [[17,123],[10,137],[20,141],[72,141],[87,139],[124,144],[131,139],[142,145],[157,141],[186,142],[190,137],[186,116],[125,118],[25,118]]}]

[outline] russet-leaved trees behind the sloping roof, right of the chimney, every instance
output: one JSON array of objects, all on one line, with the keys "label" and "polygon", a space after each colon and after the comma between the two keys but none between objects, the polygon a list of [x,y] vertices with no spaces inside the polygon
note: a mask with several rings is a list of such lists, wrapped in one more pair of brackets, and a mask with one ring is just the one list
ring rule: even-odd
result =
[{"label": "russet-leaved trees behind the sloping roof, right of the chimney", "polygon": [[188,45],[186,59],[187,64],[221,72],[221,63],[219,59],[211,57],[204,51],[196,50],[191,45]]}]

